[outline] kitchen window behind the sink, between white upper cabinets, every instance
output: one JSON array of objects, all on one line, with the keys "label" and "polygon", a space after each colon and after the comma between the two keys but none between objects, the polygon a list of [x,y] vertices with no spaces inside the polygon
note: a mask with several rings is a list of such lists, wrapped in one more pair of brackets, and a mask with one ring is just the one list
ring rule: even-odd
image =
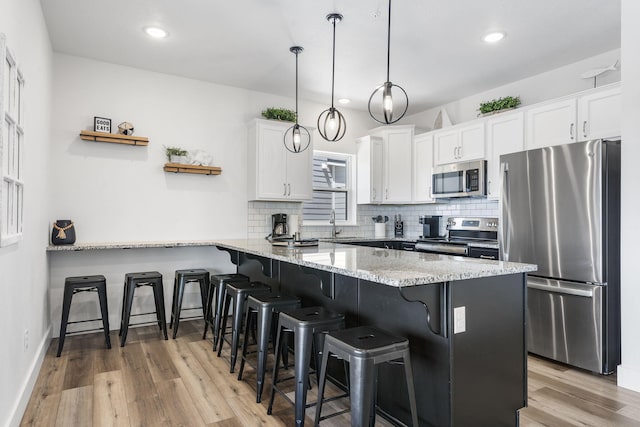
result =
[{"label": "kitchen window behind the sink, between white upper cabinets", "polygon": [[302,204],[304,225],[327,225],[332,211],[336,224],[355,224],[353,155],[314,151],[313,199]]}]

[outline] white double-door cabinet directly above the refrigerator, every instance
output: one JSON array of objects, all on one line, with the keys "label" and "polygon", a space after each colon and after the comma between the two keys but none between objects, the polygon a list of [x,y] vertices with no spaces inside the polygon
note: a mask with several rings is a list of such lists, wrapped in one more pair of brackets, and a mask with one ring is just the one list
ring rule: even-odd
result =
[{"label": "white double-door cabinet directly above the refrigerator", "polygon": [[620,86],[530,108],[526,148],[620,135]]}]

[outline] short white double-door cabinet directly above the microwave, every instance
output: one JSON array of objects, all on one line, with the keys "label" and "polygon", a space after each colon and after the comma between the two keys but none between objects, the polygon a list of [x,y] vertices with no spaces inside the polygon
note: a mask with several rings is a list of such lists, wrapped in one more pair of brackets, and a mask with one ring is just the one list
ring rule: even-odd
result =
[{"label": "short white double-door cabinet directly above the microwave", "polygon": [[433,134],[436,165],[483,159],[484,123],[455,126]]}]

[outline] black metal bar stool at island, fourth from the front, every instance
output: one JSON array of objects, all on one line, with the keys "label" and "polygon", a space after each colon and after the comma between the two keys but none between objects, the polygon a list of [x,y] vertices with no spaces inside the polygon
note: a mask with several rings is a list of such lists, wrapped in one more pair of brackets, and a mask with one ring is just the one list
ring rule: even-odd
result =
[{"label": "black metal bar stool at island, fourth from the front", "polygon": [[231,366],[229,372],[233,373],[236,367],[236,359],[238,357],[238,340],[242,332],[242,315],[249,295],[267,294],[271,292],[271,287],[262,282],[249,283],[228,283],[227,293],[224,302],[224,315],[222,316],[222,326],[220,329],[220,337],[218,341],[218,357],[222,354],[222,344],[225,341],[227,329],[227,318],[229,317],[229,309],[233,304],[233,320],[231,324]]}]

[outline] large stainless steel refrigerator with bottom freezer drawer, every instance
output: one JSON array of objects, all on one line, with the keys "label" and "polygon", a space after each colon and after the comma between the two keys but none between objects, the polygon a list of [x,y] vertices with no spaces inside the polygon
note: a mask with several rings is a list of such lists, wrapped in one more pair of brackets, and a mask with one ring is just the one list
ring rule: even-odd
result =
[{"label": "large stainless steel refrigerator with bottom freezer drawer", "polygon": [[620,141],[500,157],[501,259],[527,279],[531,353],[612,373],[620,364]]}]

